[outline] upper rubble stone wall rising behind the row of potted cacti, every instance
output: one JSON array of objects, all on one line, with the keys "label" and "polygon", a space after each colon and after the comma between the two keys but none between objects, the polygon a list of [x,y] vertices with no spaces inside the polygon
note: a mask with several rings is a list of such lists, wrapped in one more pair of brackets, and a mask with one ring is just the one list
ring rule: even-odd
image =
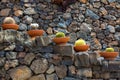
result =
[{"label": "upper rubble stone wall rising behind the row of potted cacti", "polygon": [[58,6],[52,0],[1,0],[0,24],[6,16],[11,16],[19,24],[19,31],[29,30],[31,23],[38,23],[47,35],[62,31],[71,37],[71,43],[85,39],[91,43],[91,50],[108,46],[118,50],[119,3],[119,0],[77,0],[62,11],[62,4]]}]

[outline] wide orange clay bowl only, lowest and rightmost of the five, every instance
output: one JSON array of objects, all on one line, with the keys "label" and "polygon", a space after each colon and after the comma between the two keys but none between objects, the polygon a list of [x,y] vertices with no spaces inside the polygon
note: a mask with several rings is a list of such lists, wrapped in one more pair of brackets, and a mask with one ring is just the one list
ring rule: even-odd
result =
[{"label": "wide orange clay bowl only, lowest and rightmost of the five", "polygon": [[100,52],[100,56],[106,60],[114,60],[118,56],[118,52]]}]

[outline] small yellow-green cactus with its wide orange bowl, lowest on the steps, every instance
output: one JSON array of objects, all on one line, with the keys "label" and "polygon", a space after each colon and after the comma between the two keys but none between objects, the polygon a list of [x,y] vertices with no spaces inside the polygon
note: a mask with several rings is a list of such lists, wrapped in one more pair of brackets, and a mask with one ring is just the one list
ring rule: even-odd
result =
[{"label": "small yellow-green cactus with its wide orange bowl, lowest on the steps", "polygon": [[106,48],[105,51],[100,52],[100,56],[106,60],[114,60],[118,56],[118,52],[115,52],[113,48]]}]

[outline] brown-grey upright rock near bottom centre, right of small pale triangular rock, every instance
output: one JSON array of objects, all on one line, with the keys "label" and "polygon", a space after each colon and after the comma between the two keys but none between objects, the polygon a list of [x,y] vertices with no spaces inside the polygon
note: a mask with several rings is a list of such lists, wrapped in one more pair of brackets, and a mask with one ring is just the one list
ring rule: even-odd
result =
[{"label": "brown-grey upright rock near bottom centre, right of small pale triangular rock", "polygon": [[65,65],[55,66],[55,71],[59,78],[64,78],[67,75],[67,67]]}]

